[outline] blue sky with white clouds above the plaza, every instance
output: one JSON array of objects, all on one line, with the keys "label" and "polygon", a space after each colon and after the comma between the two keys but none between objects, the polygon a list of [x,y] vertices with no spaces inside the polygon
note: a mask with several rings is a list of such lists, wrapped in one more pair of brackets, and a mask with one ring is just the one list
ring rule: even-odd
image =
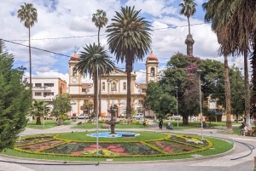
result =
[{"label": "blue sky with white clouds above the plaza", "polygon": [[[152,26],[152,50],[158,57],[160,69],[164,69],[166,62],[173,54],[186,54],[184,43],[188,33],[188,20],[179,14],[178,4],[181,0],[0,0],[0,38],[13,43],[5,42],[6,50],[14,54],[14,68],[26,67],[25,76],[29,76],[28,29],[20,23],[17,11],[20,5],[32,3],[38,9],[38,22],[31,29],[31,46],[57,54],[32,49],[32,76],[33,77],[61,77],[68,84],[68,56],[72,56],[75,49],[80,54],[85,44],[97,43],[98,29],[91,21],[92,14],[97,9],[107,13],[108,25],[115,11],[121,7],[135,6],[140,10],[139,16],[145,17]],[[216,34],[211,30],[211,24],[205,23],[205,12],[201,8],[207,0],[195,0],[196,13],[190,17],[191,34],[195,40],[194,56],[201,59],[224,61],[218,56],[218,41]],[[106,28],[101,30],[100,41],[108,50]],[[62,38],[61,38],[62,37]],[[63,38],[66,37],[66,38]],[[20,43],[26,46],[21,46]],[[65,54],[58,55],[58,54]],[[137,83],[146,83],[145,61],[134,63],[137,71]],[[116,63],[118,68],[125,70],[125,64]],[[229,66],[236,65],[243,69],[242,57],[229,57]],[[251,69],[250,69],[251,70]],[[92,83],[89,77],[83,78],[83,83]]]}]

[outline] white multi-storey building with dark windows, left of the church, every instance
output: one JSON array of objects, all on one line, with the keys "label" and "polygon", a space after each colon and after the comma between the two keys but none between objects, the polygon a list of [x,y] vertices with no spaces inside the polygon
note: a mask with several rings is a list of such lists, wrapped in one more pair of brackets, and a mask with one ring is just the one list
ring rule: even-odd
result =
[{"label": "white multi-storey building with dark windows, left of the church", "polygon": [[[29,80],[29,77],[25,78]],[[57,94],[67,93],[67,83],[59,77],[32,77],[32,99],[51,103]]]}]

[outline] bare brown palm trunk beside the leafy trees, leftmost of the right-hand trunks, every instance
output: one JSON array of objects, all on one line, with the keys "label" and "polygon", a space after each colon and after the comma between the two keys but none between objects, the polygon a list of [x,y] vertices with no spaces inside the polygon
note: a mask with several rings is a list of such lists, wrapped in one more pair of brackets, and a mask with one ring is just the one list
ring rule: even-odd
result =
[{"label": "bare brown palm trunk beside the leafy trees, leftmost of the right-hand trunks", "polygon": [[232,132],[232,123],[231,123],[231,105],[230,105],[230,77],[229,77],[229,65],[228,65],[228,56],[224,55],[224,78],[225,78],[225,98],[226,98],[226,127],[227,132]]}]

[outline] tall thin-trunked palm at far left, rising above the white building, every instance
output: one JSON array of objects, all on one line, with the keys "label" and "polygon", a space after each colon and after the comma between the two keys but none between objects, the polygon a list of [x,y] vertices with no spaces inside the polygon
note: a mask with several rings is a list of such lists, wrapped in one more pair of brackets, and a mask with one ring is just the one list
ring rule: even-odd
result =
[{"label": "tall thin-trunked palm at far left, rising above the white building", "polygon": [[32,61],[31,61],[31,47],[30,47],[30,29],[34,26],[35,22],[38,22],[38,12],[37,9],[33,8],[32,3],[25,3],[25,5],[20,5],[18,10],[18,18],[20,22],[24,21],[24,26],[28,28],[28,46],[29,46],[29,84],[32,87]]}]

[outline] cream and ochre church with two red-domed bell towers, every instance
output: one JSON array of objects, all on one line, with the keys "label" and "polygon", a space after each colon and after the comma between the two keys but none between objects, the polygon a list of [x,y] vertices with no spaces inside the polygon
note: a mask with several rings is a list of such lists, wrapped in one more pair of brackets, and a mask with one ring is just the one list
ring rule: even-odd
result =
[{"label": "cream and ochre church with two red-domed bell towers", "polygon": [[[75,67],[79,63],[79,55],[77,52],[68,61],[69,66],[69,84],[68,94],[72,96],[71,114],[79,116],[82,113],[88,113],[83,110],[83,105],[88,101],[93,101],[94,85],[93,83],[82,83],[82,75]],[[146,83],[136,83],[136,72],[131,73],[131,107],[137,113],[145,112],[145,117],[154,117],[153,111],[143,110],[143,98],[146,95],[146,88],[149,82],[159,81],[159,60],[154,55],[153,51],[146,60]],[[100,79],[99,79],[100,80]],[[108,110],[111,105],[116,109],[116,117],[125,114],[126,111],[126,96],[127,96],[127,73],[125,71],[114,68],[109,76],[101,79],[101,117],[110,117]],[[81,108],[82,107],[82,108]]]}]

